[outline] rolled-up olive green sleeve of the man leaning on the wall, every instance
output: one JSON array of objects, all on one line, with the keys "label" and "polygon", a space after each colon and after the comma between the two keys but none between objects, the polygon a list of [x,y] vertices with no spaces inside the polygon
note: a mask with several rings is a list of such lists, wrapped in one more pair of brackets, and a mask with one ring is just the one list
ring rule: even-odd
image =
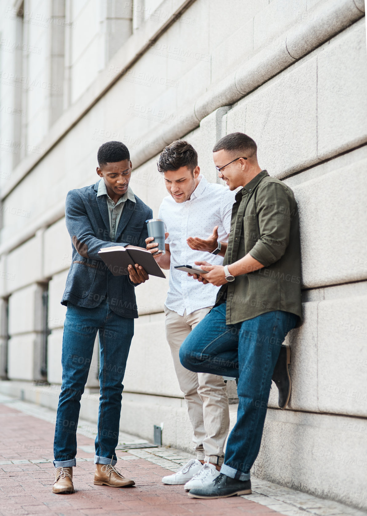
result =
[{"label": "rolled-up olive green sleeve of the man leaning on the wall", "polygon": [[289,244],[292,214],[290,198],[285,186],[266,183],[256,196],[256,212],[260,238],[250,255],[265,267],[279,260]]}]

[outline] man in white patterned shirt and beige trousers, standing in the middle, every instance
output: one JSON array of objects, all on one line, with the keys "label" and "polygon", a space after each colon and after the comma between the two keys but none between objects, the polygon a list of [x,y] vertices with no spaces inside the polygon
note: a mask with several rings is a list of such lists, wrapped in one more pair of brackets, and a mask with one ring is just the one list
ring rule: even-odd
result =
[{"label": "man in white patterned shirt and beige trousers, standing in the middle", "polygon": [[[161,268],[170,270],[164,307],[166,337],[193,425],[197,454],[196,459],[188,461],[179,472],[163,477],[162,482],[185,484],[185,490],[190,490],[205,487],[219,475],[230,418],[223,378],[190,372],[179,359],[181,344],[212,309],[218,287],[203,286],[174,266],[194,265],[198,260],[222,264],[231,227],[234,192],[206,181],[200,174],[197,152],[183,140],[174,141],[164,149],[158,170],[164,175],[170,195],[163,199],[159,210],[159,218],[167,231],[166,251],[154,257]],[[158,244],[151,244],[152,239],[146,239],[147,249],[155,253]]]}]

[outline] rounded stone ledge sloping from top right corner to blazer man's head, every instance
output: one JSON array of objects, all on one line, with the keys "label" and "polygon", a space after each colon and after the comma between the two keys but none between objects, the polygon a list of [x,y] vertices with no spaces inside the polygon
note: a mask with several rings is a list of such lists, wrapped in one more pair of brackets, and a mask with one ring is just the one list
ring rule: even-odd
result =
[{"label": "rounded stone ledge sloping from top right corner to blazer man's head", "polygon": [[[361,3],[359,3],[361,4]],[[279,37],[278,46],[268,45],[236,72],[223,79],[214,88],[209,89],[195,103],[188,107],[181,117],[185,124],[178,122],[168,129],[157,133],[156,128],[142,138],[155,145],[139,149],[132,155],[135,166],[143,164],[156,154],[155,147],[162,150],[172,140],[182,137],[198,126],[195,119],[201,121],[219,107],[237,102],[244,95],[266,83],[269,79],[288,68],[293,62],[315,50],[328,39],[339,34],[343,29],[363,17],[364,8],[356,6],[354,0],[328,0],[309,11],[305,21]],[[291,50],[290,54],[289,49]],[[258,63],[262,62],[261,67]],[[192,127],[190,127],[190,123]],[[186,132],[184,132],[186,129]],[[154,148],[153,148],[154,147]]]}]

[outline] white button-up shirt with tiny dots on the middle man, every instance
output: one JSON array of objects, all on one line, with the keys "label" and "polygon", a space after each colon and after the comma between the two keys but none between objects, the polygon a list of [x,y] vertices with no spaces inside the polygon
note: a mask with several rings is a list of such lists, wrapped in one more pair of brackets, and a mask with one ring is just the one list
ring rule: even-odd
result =
[{"label": "white button-up shirt with tiny dots on the middle man", "polygon": [[208,183],[202,174],[199,184],[190,199],[177,203],[169,195],[165,197],[159,209],[159,218],[164,220],[169,236],[171,265],[169,271],[169,288],[165,305],[170,310],[183,315],[215,303],[219,287],[212,284],[203,285],[187,276],[186,272],[174,269],[175,265],[195,265],[197,261],[206,261],[221,265],[223,257],[206,251],[194,251],[187,245],[186,238],[197,236],[208,238],[218,225],[218,241],[228,241],[231,229],[232,205],[235,192],[215,183]]}]

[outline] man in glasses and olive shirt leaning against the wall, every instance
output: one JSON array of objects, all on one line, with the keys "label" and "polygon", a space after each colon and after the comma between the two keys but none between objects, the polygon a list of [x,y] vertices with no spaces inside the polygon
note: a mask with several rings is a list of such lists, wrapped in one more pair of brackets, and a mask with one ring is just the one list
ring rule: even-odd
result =
[{"label": "man in glasses and olive shirt leaning against the wall", "polygon": [[[293,192],[257,163],[256,143],[243,133],[213,149],[219,177],[237,192],[223,266],[196,262],[202,283],[221,286],[215,307],[180,349],[184,367],[238,378],[237,423],[221,474],[190,497],[251,493],[271,378],[284,339],[301,319],[301,256]],[[223,245],[223,244],[222,244]]]}]

